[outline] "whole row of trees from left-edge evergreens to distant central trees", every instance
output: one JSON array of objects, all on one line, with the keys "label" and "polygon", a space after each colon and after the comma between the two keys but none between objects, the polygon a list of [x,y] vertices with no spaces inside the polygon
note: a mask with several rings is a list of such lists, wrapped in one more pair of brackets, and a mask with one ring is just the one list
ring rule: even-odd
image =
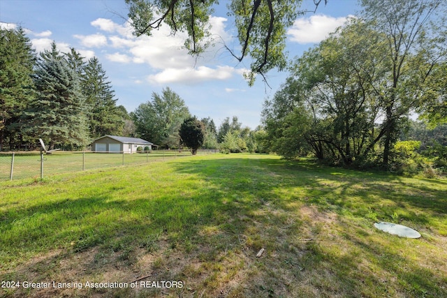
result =
[{"label": "whole row of trees from left-edge evergreens to distant central trees", "polygon": [[170,88],[128,113],[117,105],[96,57],[85,59],[74,48],[62,53],[54,42],[36,54],[22,29],[0,29],[0,150],[34,149],[38,138],[50,149],[85,149],[102,135],[141,137],[162,149],[179,149],[191,144],[180,135],[185,121],[200,128],[200,148],[265,151],[260,128],[243,128],[237,117],[227,117],[219,128],[210,117],[199,121]]}]

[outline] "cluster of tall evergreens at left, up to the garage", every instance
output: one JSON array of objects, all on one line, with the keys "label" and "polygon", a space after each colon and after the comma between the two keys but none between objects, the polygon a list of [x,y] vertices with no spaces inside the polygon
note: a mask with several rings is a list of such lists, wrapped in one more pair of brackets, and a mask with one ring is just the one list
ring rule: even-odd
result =
[{"label": "cluster of tall evergreens at left, up to the garage", "polygon": [[50,149],[84,148],[126,133],[130,117],[96,57],[53,42],[39,54],[22,29],[0,29],[0,149],[24,149],[41,137]]}]

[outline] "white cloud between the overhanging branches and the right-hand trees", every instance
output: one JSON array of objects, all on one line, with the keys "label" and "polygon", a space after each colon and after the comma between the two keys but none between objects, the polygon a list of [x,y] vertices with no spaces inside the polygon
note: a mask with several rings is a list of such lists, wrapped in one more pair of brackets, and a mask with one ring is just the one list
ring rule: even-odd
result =
[{"label": "white cloud between the overhanging branches and the right-hand trees", "polygon": [[328,37],[329,33],[335,31],[353,15],[347,17],[330,17],[328,15],[312,15],[311,17],[300,17],[293,22],[287,35],[291,41],[296,43],[319,43]]}]

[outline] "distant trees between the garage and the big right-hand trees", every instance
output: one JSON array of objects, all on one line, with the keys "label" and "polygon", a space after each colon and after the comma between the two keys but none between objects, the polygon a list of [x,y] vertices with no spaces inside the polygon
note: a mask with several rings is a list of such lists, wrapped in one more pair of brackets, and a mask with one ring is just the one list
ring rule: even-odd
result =
[{"label": "distant trees between the garage and the big right-hand trees", "polygon": [[135,135],[158,144],[161,148],[184,146],[194,150],[221,149],[226,152],[265,152],[261,127],[251,131],[237,117],[223,119],[219,127],[210,117],[192,116],[184,100],[169,87],[161,94],[152,93],[151,100],[141,103],[131,119]]}]

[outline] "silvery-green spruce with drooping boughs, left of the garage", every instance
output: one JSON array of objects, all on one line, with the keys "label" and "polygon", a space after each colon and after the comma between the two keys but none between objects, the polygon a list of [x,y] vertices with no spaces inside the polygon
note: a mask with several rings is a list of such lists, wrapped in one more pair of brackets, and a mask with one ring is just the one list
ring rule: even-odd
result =
[{"label": "silvery-green spruce with drooping boughs, left of the garage", "polygon": [[37,94],[27,112],[27,131],[42,137],[50,149],[54,144],[86,145],[89,137],[80,76],[59,53],[54,42],[50,51],[40,54],[34,84]]}]

